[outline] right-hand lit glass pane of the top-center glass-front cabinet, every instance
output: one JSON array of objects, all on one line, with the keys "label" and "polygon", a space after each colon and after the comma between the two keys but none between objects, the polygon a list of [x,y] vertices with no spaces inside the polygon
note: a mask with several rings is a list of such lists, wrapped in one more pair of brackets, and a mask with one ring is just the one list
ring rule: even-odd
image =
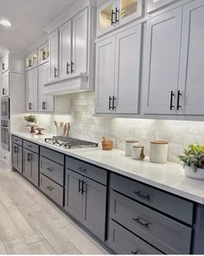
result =
[{"label": "right-hand lit glass pane of the top-center glass-front cabinet", "polygon": [[137,0],[120,0],[120,18],[130,16],[137,12]]}]

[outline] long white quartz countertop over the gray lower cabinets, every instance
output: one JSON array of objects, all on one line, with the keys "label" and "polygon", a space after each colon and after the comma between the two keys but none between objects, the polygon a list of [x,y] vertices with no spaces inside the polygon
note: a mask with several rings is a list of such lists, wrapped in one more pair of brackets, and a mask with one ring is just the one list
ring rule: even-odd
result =
[{"label": "long white quartz countertop over the gray lower cabinets", "polygon": [[113,149],[104,151],[101,148],[64,149],[50,145],[44,141],[53,135],[32,135],[29,133],[14,133],[22,139],[33,141],[41,146],[54,149],[63,154],[104,167],[116,174],[122,174],[136,181],[142,181],[150,186],[163,189],[185,199],[204,204],[204,181],[190,179],[184,175],[179,164],[151,163],[149,159],[136,161],[125,156],[124,151]]}]

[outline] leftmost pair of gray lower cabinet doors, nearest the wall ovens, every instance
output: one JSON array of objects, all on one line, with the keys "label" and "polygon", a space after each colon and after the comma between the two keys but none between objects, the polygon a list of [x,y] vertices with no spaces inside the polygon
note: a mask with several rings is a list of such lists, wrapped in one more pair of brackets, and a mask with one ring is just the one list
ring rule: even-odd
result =
[{"label": "leftmost pair of gray lower cabinet doors, nearest the wall ovens", "polygon": [[12,166],[22,174],[22,147],[12,143]]}]

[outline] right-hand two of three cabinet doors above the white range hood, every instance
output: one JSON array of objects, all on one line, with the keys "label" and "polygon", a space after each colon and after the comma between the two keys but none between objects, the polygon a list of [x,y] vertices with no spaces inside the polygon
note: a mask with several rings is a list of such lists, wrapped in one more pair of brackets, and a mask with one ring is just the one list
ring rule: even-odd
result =
[{"label": "right-hand two of three cabinet doors above the white range hood", "polygon": [[60,28],[60,77],[87,73],[88,10],[73,16]]}]

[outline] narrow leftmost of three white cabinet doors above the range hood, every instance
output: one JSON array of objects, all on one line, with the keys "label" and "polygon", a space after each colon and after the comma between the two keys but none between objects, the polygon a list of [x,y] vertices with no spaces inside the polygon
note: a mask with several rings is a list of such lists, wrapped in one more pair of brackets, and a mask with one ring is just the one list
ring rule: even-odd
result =
[{"label": "narrow leftmost of three white cabinet doors above the range hood", "polygon": [[59,77],[59,30],[54,30],[49,35],[49,81],[54,81]]}]

